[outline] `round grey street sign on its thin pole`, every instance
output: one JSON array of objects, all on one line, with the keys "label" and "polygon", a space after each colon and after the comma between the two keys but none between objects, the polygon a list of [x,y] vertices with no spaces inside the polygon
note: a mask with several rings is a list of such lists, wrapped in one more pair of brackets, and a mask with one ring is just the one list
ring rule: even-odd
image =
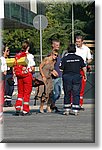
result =
[{"label": "round grey street sign on its thin pole", "polygon": [[40,30],[40,56],[42,61],[42,30],[48,25],[48,20],[44,15],[37,15],[33,19],[33,25],[37,30]]}]

